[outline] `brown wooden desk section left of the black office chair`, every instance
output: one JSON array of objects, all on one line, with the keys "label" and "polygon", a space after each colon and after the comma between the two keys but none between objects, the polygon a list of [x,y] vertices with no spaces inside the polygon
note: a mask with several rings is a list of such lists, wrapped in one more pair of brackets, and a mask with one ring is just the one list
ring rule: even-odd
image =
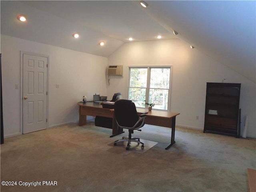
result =
[{"label": "brown wooden desk section left of the black office chair", "polygon": [[114,111],[102,108],[100,103],[87,102],[87,103],[77,103],[79,106],[79,126],[86,125],[86,116],[102,116],[112,118],[112,135],[114,137],[121,133],[124,133],[123,129],[118,127],[116,124],[116,118],[114,116]]}]

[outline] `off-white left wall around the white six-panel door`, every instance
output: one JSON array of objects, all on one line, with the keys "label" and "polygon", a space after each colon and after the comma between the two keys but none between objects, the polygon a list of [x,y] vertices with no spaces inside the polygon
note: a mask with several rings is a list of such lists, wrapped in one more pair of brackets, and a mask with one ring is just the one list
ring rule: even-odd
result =
[{"label": "off-white left wall around the white six-panel door", "polygon": [[78,122],[76,103],[83,96],[106,95],[107,58],[1,35],[4,137],[22,133],[21,51],[49,56],[49,127]]}]

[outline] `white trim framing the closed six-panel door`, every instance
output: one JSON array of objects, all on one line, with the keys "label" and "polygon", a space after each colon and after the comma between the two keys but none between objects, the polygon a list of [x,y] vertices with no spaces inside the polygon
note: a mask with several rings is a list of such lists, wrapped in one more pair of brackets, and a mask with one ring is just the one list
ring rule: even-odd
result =
[{"label": "white trim framing the closed six-panel door", "polygon": [[20,51],[20,134],[23,134],[23,54],[29,54],[29,55],[34,55],[34,56],[40,56],[40,57],[46,57],[47,58],[47,63],[48,63],[48,67],[47,67],[47,95],[46,95],[46,99],[47,99],[47,104],[46,104],[46,118],[47,118],[47,122],[46,122],[46,129],[48,129],[49,127],[49,118],[48,118],[48,114],[49,114],[49,56],[48,55],[44,55],[44,54],[37,54],[37,53],[33,53],[33,52],[24,52],[24,51]]}]

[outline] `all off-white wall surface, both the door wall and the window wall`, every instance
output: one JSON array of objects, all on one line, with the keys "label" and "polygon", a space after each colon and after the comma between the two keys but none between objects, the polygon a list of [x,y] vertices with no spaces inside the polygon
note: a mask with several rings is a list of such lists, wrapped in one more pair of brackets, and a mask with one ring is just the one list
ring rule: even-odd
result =
[{"label": "all off-white wall surface, both the door wall and the window wall", "polygon": [[[240,108],[249,116],[247,136],[256,138],[256,84],[206,56],[181,40],[129,42],[109,58],[76,52],[1,35],[4,136],[21,134],[20,51],[49,56],[48,126],[78,121],[76,103],[100,93],[111,99],[115,92],[128,97],[128,67],[172,65],[171,111],[179,112],[177,124],[203,129],[206,82],[241,83]],[[123,65],[124,75],[106,76],[108,65]],[[56,88],[60,84],[60,88]],[[196,116],[199,119],[196,120]],[[242,132],[241,132],[242,133]]]}]

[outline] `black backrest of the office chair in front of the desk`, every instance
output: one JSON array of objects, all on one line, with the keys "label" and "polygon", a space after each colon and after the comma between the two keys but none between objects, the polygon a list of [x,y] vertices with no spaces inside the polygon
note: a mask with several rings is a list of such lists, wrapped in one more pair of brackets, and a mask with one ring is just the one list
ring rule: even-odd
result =
[{"label": "black backrest of the office chair in front of the desk", "polygon": [[114,109],[116,121],[120,126],[133,127],[139,120],[136,106],[131,100],[117,100]]}]

